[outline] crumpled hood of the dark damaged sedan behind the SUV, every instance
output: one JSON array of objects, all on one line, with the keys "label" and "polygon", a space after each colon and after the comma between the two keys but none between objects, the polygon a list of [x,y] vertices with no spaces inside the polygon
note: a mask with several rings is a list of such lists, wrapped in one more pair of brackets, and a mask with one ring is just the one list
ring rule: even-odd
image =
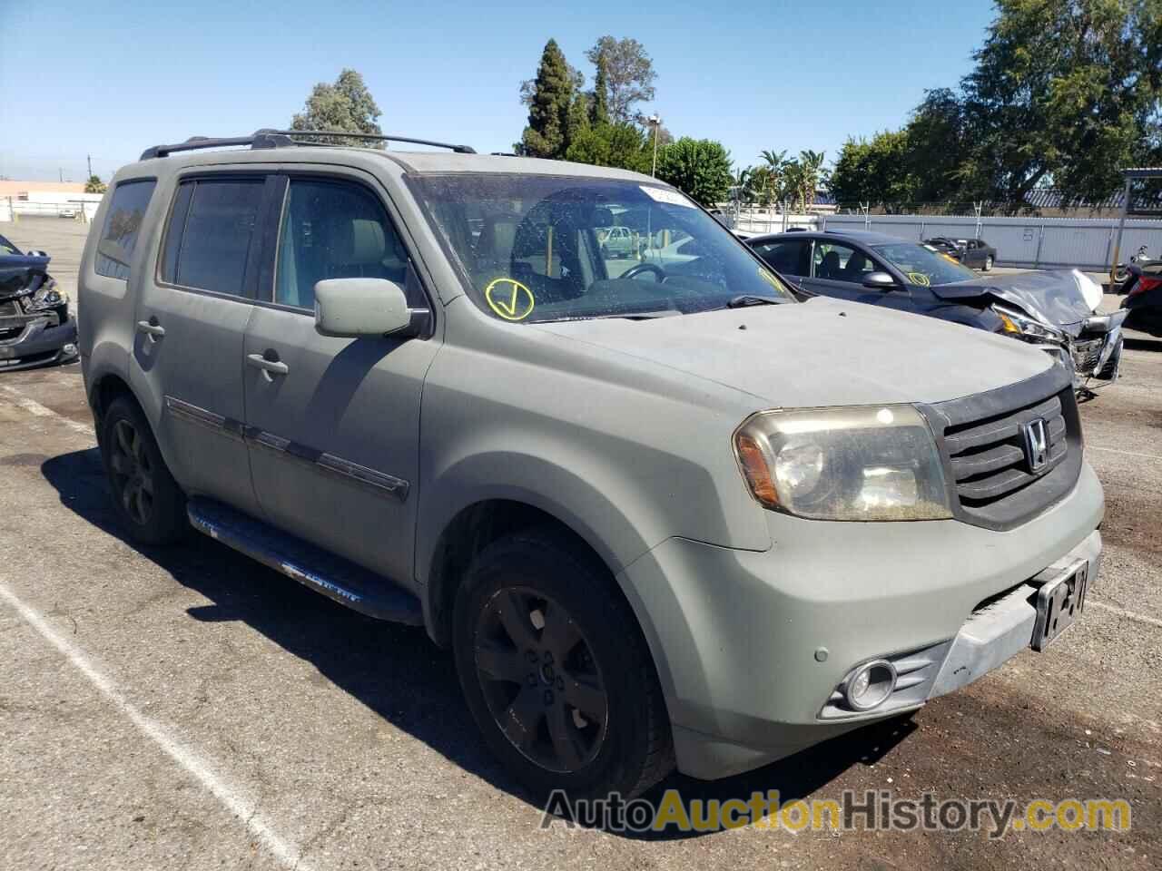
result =
[{"label": "crumpled hood of the dark damaged sedan behind the SUV", "polygon": [[1102,303],[1102,288],[1077,269],[990,275],[931,290],[941,300],[956,302],[980,298],[988,304],[987,297],[992,297],[1071,336],[1081,332],[1085,318]]}]

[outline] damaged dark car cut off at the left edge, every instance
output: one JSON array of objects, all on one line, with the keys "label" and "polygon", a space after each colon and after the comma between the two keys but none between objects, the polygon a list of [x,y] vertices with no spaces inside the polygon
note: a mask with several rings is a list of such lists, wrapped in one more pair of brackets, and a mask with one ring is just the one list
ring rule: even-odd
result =
[{"label": "damaged dark car cut off at the left edge", "polygon": [[0,372],[77,357],[77,322],[67,294],[48,273],[49,260],[0,236]]}]

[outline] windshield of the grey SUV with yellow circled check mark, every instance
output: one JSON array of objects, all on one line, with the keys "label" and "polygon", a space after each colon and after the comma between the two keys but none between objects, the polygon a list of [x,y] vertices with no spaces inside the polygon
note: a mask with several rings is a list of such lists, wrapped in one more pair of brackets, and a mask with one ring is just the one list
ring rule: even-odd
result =
[{"label": "windshield of the grey SUV with yellow circled check mark", "polygon": [[411,181],[473,301],[502,321],[691,314],[739,296],[794,301],[670,188],[509,174]]}]

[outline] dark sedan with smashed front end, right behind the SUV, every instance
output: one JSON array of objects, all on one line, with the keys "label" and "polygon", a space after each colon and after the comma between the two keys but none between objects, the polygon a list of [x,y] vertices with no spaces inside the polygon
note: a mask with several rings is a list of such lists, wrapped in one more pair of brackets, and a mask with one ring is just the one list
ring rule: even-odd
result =
[{"label": "dark sedan with smashed front end, right behind the SUV", "polygon": [[808,295],[928,315],[1045,347],[1074,384],[1113,382],[1126,312],[1098,315],[1102,288],[1076,269],[983,278],[939,251],[883,233],[796,232],[746,240]]}]

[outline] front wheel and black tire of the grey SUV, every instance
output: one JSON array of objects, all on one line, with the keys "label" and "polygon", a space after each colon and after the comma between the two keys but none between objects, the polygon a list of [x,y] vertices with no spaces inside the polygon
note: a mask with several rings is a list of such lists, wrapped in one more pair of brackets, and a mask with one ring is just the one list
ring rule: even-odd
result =
[{"label": "front wheel and black tire of the grey SUV", "polygon": [[526,530],[485,548],[457,592],[452,643],[485,742],[538,800],[629,799],[674,768],[641,632],[565,537]]}]

